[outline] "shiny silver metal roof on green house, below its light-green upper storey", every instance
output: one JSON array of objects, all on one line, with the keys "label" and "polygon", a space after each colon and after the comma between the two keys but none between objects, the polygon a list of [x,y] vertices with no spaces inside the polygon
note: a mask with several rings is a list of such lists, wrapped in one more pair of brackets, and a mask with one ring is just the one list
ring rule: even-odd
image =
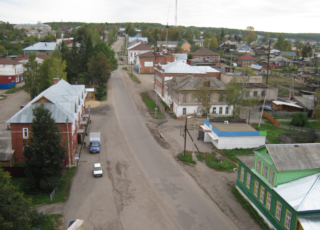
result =
[{"label": "shiny silver metal roof on green house, below its light-green upper storey", "polygon": [[320,210],[320,173],[273,188],[296,211]]}]

